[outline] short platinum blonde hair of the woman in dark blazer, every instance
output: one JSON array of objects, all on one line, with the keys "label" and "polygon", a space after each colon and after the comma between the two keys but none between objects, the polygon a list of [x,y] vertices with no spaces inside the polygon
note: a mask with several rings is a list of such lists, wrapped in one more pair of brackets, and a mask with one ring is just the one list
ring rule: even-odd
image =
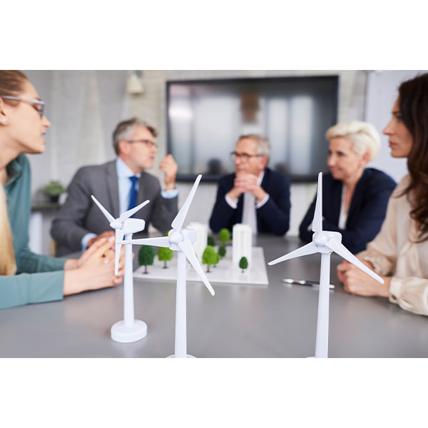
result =
[{"label": "short platinum blonde hair of the woman in dark blazer", "polygon": [[359,156],[369,152],[372,161],[376,158],[380,150],[380,136],[372,123],[362,121],[350,121],[346,123],[337,123],[327,129],[325,138],[331,141],[332,138],[349,138],[352,143],[352,150]]}]

